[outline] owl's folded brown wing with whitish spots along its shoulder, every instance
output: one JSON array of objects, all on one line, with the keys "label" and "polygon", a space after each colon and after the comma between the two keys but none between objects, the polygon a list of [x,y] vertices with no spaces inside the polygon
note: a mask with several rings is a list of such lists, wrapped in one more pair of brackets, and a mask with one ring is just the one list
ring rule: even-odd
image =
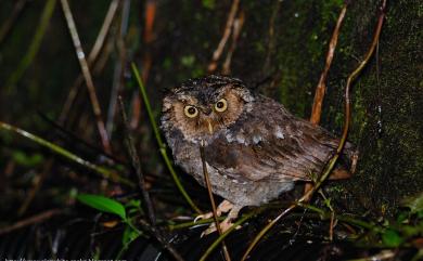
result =
[{"label": "owl's folded brown wing with whitish spots along its shoulder", "polygon": [[[259,96],[251,112],[205,147],[207,164],[240,182],[292,182],[320,174],[338,140]],[[345,154],[351,155],[347,143]]]}]

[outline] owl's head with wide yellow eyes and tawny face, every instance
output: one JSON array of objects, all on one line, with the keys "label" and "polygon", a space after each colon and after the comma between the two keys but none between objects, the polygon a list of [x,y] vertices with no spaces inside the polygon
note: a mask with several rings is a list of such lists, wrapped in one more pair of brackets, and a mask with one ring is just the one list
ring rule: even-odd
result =
[{"label": "owl's head with wide yellow eyes and tawny face", "polygon": [[179,130],[185,140],[209,140],[252,109],[254,95],[235,78],[207,76],[176,87],[163,101],[162,127]]}]

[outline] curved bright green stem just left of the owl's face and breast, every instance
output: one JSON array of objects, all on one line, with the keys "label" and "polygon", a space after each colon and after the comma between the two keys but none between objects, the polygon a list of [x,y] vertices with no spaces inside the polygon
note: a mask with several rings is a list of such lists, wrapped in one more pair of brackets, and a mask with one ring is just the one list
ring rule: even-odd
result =
[{"label": "curved bright green stem just left of the owl's face and breast", "polygon": [[153,115],[153,110],[151,108],[151,105],[150,105],[150,101],[149,101],[149,97],[146,95],[146,91],[145,91],[145,88],[144,88],[144,83],[142,82],[141,80],[141,77],[140,77],[140,73],[138,71],[137,69],[137,66],[134,63],[131,64],[131,67],[132,67],[132,73],[133,75],[136,76],[136,79],[137,79],[137,82],[138,82],[138,86],[140,88],[140,94],[142,95],[142,100],[144,102],[144,105],[145,105],[145,109],[146,109],[146,113],[149,115],[149,119],[150,119],[150,123],[153,128],[153,132],[154,132],[154,135],[156,138],[156,141],[158,143],[158,148],[161,151],[161,154],[163,156],[163,159],[165,160],[165,164],[166,164],[166,167],[167,169],[169,170],[170,174],[171,174],[171,178],[174,179],[175,181],[175,184],[177,185],[179,192],[182,194],[182,196],[185,198],[187,203],[191,206],[191,208],[197,212],[197,213],[202,213],[202,211],[195,206],[194,201],[192,201],[191,197],[188,195],[188,193],[185,192],[185,190],[183,188],[183,185],[182,183],[180,182],[174,167],[172,167],[172,164],[169,159],[169,157],[167,156],[167,153],[166,153],[166,145],[165,143],[163,142],[162,140],[162,136],[161,136],[161,133],[158,131],[158,127],[157,127],[157,123],[154,119],[154,115]]}]

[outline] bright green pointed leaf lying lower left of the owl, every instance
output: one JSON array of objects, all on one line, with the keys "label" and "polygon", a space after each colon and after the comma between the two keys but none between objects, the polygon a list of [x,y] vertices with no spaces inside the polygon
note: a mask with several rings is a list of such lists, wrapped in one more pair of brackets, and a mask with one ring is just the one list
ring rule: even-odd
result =
[{"label": "bright green pointed leaf lying lower left of the owl", "polygon": [[98,209],[103,212],[117,214],[123,220],[126,220],[125,208],[119,201],[92,194],[79,194],[77,196],[77,199],[80,203],[90,206],[91,208]]}]

